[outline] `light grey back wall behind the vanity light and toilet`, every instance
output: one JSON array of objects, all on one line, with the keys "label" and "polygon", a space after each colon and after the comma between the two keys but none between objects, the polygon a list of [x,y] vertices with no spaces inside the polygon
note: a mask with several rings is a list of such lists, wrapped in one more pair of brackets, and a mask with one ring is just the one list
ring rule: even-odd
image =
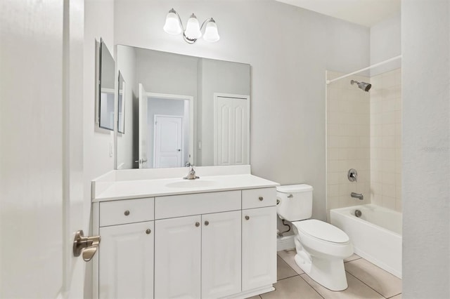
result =
[{"label": "light grey back wall behind the vanity light and toilet", "polygon": [[[162,30],[175,8],[186,22],[211,16],[221,40],[186,44]],[[314,218],[326,219],[325,70],[369,64],[369,29],[271,0],[116,0],[115,42],[252,65],[252,173],[314,186]]]}]

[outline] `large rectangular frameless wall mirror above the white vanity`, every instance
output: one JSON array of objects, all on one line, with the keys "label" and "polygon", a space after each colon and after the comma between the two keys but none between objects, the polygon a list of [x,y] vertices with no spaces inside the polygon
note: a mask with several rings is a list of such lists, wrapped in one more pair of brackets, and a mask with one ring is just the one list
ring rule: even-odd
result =
[{"label": "large rectangular frameless wall mirror above the white vanity", "polygon": [[117,46],[117,169],[250,164],[250,65]]}]

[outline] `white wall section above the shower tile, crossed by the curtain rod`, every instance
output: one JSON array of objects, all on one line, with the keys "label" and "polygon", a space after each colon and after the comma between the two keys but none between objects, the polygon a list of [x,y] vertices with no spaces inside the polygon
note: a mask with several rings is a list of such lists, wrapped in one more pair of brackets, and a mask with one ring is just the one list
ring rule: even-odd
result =
[{"label": "white wall section above the shower tile, crossed by the curtain rod", "polygon": [[[371,65],[401,54],[401,15],[393,15],[371,27]],[[401,67],[401,60],[371,69],[371,75]]]}]

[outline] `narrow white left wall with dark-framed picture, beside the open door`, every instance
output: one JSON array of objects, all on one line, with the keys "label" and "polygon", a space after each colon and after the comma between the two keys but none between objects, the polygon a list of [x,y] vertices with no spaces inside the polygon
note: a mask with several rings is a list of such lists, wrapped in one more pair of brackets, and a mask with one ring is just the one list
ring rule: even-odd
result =
[{"label": "narrow white left wall with dark-framed picture, beside the open door", "polygon": [[[96,39],[103,38],[113,57],[114,49],[114,1],[84,1],[84,95],[83,95],[83,167],[84,167],[84,215],[91,213],[91,180],[114,169],[113,131],[101,131],[95,124],[96,101]],[[84,296],[91,297],[91,263],[86,264]]]}]

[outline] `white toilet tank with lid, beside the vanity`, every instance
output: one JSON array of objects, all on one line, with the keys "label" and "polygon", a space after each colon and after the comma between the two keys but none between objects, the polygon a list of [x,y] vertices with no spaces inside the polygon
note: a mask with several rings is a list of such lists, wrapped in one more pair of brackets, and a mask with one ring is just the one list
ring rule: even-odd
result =
[{"label": "white toilet tank with lid, beside the vanity", "polygon": [[312,190],[309,185],[276,187],[276,210],[281,219],[297,221],[311,218]]}]

